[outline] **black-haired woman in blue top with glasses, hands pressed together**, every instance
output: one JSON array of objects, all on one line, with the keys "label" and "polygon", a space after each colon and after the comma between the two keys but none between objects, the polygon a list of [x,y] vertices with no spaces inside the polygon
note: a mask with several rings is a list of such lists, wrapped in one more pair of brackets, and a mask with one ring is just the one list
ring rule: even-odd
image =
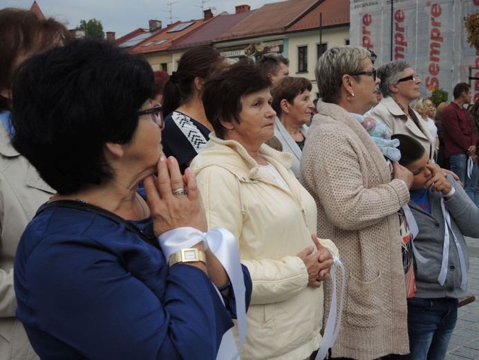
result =
[{"label": "black-haired woman in blue top with glasses, hands pressed together", "polygon": [[236,242],[220,228],[204,235],[193,172],[162,152],[153,87],[146,60],[93,39],[35,55],[17,74],[13,145],[57,190],[15,258],[17,316],[41,359],[238,351],[232,334],[222,339],[245,318],[250,276],[238,254],[212,252],[234,254]]}]

